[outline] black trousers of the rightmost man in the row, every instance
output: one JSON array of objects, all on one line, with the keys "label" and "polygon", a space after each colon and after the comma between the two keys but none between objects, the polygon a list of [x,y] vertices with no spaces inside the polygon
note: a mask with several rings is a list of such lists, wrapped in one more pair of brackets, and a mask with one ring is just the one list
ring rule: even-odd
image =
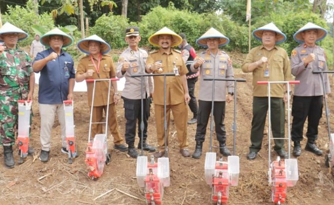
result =
[{"label": "black trousers of the rightmost man in the row", "polygon": [[320,96],[293,96],[292,102],[292,141],[303,140],[303,128],[308,119],[306,137],[308,140],[318,138],[319,121],[323,113],[323,95]]}]

